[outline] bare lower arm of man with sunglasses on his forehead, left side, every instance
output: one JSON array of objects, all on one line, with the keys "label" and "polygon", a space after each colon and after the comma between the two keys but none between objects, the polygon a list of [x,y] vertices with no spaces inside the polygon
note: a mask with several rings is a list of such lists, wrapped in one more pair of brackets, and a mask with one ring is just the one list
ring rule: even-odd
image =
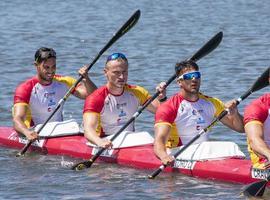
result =
[{"label": "bare lower arm of man with sunglasses on his forehead, left side", "polygon": [[95,113],[83,114],[84,136],[92,143],[99,147],[107,148],[111,146],[111,142],[102,139],[97,135],[96,128],[98,126],[98,115]]}]

